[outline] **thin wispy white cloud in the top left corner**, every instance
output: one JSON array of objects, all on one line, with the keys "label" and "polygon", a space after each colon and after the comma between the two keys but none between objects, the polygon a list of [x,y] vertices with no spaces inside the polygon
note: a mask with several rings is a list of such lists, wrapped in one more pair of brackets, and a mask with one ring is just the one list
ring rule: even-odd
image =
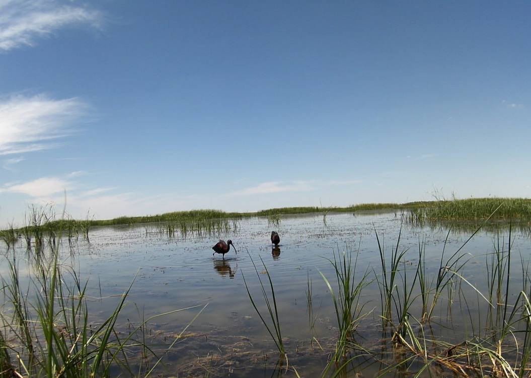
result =
[{"label": "thin wispy white cloud in the top left corner", "polygon": [[0,1],[0,50],[34,46],[39,37],[53,35],[61,28],[88,24],[98,28],[101,13],[57,1]]}]

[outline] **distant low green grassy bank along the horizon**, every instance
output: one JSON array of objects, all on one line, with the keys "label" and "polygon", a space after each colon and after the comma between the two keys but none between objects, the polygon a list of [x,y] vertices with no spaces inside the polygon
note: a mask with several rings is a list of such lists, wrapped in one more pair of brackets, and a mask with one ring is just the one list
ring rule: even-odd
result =
[{"label": "distant low green grassy bank along the horizon", "polygon": [[[138,217],[118,217],[113,219],[62,219],[54,217],[27,222],[27,226],[18,229],[0,230],[0,238],[10,244],[16,234],[49,233],[57,229],[66,230],[68,234],[88,236],[92,226],[119,226],[149,223],[171,223],[183,228],[185,225],[207,225],[212,221],[239,220],[249,217],[268,217],[272,224],[278,224],[281,216],[310,213],[356,213],[359,211],[404,211],[404,216],[411,222],[422,221],[482,221],[487,219],[494,209],[502,204],[491,220],[513,220],[515,222],[531,222],[531,199],[524,198],[470,198],[464,200],[418,201],[406,203],[361,203],[348,207],[286,207],[260,210],[257,212],[226,212],[222,210],[190,210],[174,211],[163,214]],[[32,213],[36,210],[33,209]],[[35,218],[35,217],[33,217]]]}]

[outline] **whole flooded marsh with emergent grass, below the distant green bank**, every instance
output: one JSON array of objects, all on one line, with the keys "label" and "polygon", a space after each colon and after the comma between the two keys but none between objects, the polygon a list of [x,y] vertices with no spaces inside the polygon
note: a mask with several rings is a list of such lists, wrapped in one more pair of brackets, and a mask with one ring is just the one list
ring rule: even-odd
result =
[{"label": "whole flooded marsh with emergent grass, below the distant green bank", "polygon": [[[101,352],[108,366],[98,365],[97,375],[529,375],[526,224],[490,225],[474,234],[475,226],[412,222],[396,211],[263,215],[206,229],[165,223],[93,226],[88,238],[70,243],[65,236],[55,242],[44,238],[43,248],[56,251],[56,262],[28,252],[22,239],[3,246],[4,372],[11,364],[8,372],[23,376],[62,374],[64,355],[52,362],[46,357],[61,337],[48,340],[41,330],[46,327],[35,326],[35,303],[64,285],[73,295],[62,292],[50,299],[55,310],[42,308],[53,319],[50,332],[70,333],[68,348],[89,338],[61,320],[75,312],[68,309],[79,293],[89,334],[114,319],[105,339],[114,345]],[[272,229],[280,234],[278,248],[271,248]],[[211,246],[219,238],[232,239],[238,253],[212,258]],[[53,277],[43,267],[54,264],[62,275],[50,289]],[[26,303],[36,335],[27,345],[42,350],[32,369],[23,327],[14,325],[13,266],[19,296],[26,298],[19,301]],[[271,306],[274,292],[272,319],[260,280]],[[62,307],[61,297],[71,300]],[[186,310],[176,312],[181,309]],[[270,334],[264,322],[270,329],[277,325],[279,333]],[[85,342],[90,344],[87,366],[99,355],[90,350],[102,345],[102,335]],[[285,355],[279,353],[277,335]],[[89,375],[90,368],[85,370]]]}]

